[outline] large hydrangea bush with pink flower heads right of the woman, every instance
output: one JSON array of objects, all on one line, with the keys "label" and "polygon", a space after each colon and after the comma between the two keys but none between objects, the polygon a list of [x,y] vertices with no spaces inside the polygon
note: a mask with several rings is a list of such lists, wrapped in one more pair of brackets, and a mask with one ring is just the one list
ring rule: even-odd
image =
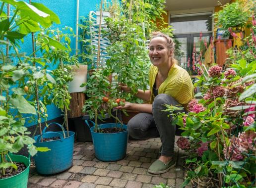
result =
[{"label": "large hydrangea bush with pink flower heads right of the woman", "polygon": [[184,130],[177,145],[189,152],[183,186],[189,182],[202,186],[209,180],[220,188],[255,185],[255,29],[253,17],[247,48],[231,57],[229,69],[214,65],[201,73],[195,83],[201,93],[189,103],[189,113],[175,114],[180,107],[167,105],[174,124]]}]

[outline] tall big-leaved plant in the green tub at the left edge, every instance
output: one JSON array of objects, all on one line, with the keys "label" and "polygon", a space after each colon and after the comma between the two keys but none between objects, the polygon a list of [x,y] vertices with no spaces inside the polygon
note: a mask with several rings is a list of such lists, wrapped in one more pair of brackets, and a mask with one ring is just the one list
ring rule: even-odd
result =
[{"label": "tall big-leaved plant in the green tub at the left edge", "polygon": [[[3,11],[10,5],[14,11],[12,16]],[[35,155],[37,150],[47,151],[47,148],[33,145],[34,140],[24,127],[23,114],[36,114],[36,109],[25,98],[29,88],[24,83],[31,71],[38,69],[23,63],[27,56],[19,53],[17,43],[32,31],[39,31],[38,23],[48,27],[53,21],[58,22],[55,14],[41,3],[28,5],[24,1],[1,0],[0,22],[5,27],[0,33],[0,185],[4,188],[27,187],[30,154]],[[9,50],[14,54],[9,54]],[[12,58],[18,59],[16,65]],[[27,145],[29,157],[12,154],[24,145]]]}]

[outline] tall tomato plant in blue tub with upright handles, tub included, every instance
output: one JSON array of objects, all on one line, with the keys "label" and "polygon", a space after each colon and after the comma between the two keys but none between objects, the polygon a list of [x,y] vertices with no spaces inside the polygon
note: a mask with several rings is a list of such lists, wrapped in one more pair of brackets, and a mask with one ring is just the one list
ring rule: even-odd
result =
[{"label": "tall tomato plant in blue tub with upright handles, tub included", "polygon": [[[70,29],[70,28],[65,28]],[[58,126],[61,131],[46,132],[45,127],[40,135],[35,136],[36,146],[48,147],[51,149],[48,153],[37,153],[34,156],[36,170],[40,174],[55,174],[62,172],[72,166],[73,159],[73,144],[74,132],[68,130],[67,110],[71,96],[68,93],[68,82],[72,78],[71,67],[68,63],[77,63],[75,56],[70,56],[70,38],[69,34],[64,34],[61,30],[49,29],[41,31],[38,34],[37,46],[41,47],[43,58],[57,65],[57,68],[52,71],[53,78],[56,83],[51,83],[43,77],[38,79],[38,82],[43,85],[42,91],[39,93],[43,97],[40,102],[43,105],[54,103],[61,109],[64,115],[64,123],[51,123],[48,126]],[[53,43],[49,43],[47,39],[51,38]],[[42,66],[46,68],[47,66]],[[43,81],[43,82],[41,82]],[[42,110],[40,109],[42,112]],[[66,128],[66,131],[64,130]],[[63,155],[65,153],[65,155]]]}]

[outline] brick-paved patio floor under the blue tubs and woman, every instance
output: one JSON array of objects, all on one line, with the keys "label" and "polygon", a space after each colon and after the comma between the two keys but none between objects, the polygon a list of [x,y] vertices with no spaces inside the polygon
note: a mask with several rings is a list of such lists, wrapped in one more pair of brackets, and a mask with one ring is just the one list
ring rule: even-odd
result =
[{"label": "brick-paved patio floor under the blue tubs and woman", "polygon": [[52,176],[41,176],[32,164],[28,188],[152,188],[159,183],[180,188],[184,181],[181,167],[184,153],[178,152],[177,147],[175,168],[161,175],[147,172],[150,164],[158,158],[160,145],[159,139],[129,140],[125,159],[101,162],[95,158],[92,142],[75,142],[70,169]]}]

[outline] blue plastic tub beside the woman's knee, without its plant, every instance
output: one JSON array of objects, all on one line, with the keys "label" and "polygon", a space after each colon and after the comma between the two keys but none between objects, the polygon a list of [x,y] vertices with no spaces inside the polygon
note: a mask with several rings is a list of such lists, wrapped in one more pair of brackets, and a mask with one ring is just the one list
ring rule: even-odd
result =
[{"label": "blue plastic tub beside the woman's knee, without its plant", "polygon": [[[89,122],[94,126],[90,127]],[[126,156],[128,132],[127,126],[116,123],[105,123],[98,125],[99,129],[104,128],[123,128],[126,131],[119,133],[96,133],[94,132],[95,123],[91,120],[85,120],[85,123],[90,127],[92,141],[95,150],[95,157],[101,161],[118,161]]]}]

